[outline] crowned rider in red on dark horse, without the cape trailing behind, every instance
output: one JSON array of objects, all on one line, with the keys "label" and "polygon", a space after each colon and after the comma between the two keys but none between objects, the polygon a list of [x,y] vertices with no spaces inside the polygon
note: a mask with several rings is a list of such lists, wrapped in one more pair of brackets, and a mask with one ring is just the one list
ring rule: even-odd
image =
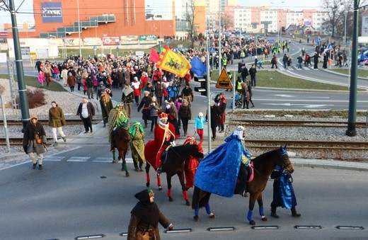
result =
[{"label": "crowned rider in red on dark horse, without the cape trailing behind", "polygon": [[162,173],[161,165],[161,155],[163,151],[166,151],[168,147],[175,146],[175,128],[168,122],[168,115],[166,113],[161,113],[159,115],[159,124],[154,129],[154,146],[152,149],[156,155],[156,168],[157,173]]}]

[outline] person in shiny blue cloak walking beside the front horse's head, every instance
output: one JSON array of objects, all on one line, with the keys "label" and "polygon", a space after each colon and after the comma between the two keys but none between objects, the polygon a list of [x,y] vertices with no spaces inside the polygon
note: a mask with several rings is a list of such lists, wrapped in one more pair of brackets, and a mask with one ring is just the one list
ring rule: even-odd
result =
[{"label": "person in shiny blue cloak walking beside the front horse's head", "polygon": [[275,179],[273,182],[271,216],[279,218],[279,215],[276,214],[276,208],[283,207],[292,210],[292,217],[300,217],[300,213],[295,208],[297,206],[297,198],[292,186],[292,174],[277,165],[271,174],[271,178]]}]

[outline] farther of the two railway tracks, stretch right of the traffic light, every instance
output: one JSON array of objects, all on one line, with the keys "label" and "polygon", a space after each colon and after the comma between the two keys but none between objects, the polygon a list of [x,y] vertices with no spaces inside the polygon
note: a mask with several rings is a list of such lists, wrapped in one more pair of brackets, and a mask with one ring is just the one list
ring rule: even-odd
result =
[{"label": "farther of the two railway tracks, stretch right of the traffic light", "polygon": [[[229,125],[248,125],[253,127],[347,127],[347,122],[315,120],[231,120]],[[367,122],[356,122],[355,127],[368,126]]]}]

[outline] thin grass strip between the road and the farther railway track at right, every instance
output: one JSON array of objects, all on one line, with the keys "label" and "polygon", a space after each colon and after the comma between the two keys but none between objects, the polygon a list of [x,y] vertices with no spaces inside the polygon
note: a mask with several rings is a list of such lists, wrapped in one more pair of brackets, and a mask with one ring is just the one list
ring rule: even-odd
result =
[{"label": "thin grass strip between the road and the farther railway track at right", "polygon": [[[246,112],[235,112],[238,115],[275,115],[276,117],[282,117],[284,115],[294,115],[294,116],[309,116],[311,118],[331,118],[331,117],[341,117],[347,118],[349,116],[349,111],[347,110],[326,110],[326,111],[314,111],[314,110],[252,110]],[[367,112],[358,111],[356,113],[357,117],[366,117]]]}]

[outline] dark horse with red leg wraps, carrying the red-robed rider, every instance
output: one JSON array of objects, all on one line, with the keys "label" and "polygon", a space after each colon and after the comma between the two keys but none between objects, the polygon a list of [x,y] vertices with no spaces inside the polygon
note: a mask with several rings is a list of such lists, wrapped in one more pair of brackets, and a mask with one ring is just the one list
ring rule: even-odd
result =
[{"label": "dark horse with red leg wraps, carrying the red-robed rider", "polygon": [[[183,190],[185,204],[190,206],[190,201],[188,199],[188,192],[185,188],[185,176],[184,176],[184,164],[185,159],[188,159],[189,156],[194,157],[195,159],[203,159],[204,155],[202,152],[198,150],[198,146],[196,144],[185,144],[176,147],[168,148],[167,152],[163,152],[162,154],[162,171],[166,173],[166,181],[168,183],[168,200],[173,202],[173,198],[171,197],[171,178],[174,175],[178,175],[181,188]],[[146,187],[149,187],[149,168],[152,166],[156,170],[156,159],[151,160],[146,159]],[[157,185],[159,186],[159,190],[162,190],[161,187],[161,176],[157,174]]]}]

